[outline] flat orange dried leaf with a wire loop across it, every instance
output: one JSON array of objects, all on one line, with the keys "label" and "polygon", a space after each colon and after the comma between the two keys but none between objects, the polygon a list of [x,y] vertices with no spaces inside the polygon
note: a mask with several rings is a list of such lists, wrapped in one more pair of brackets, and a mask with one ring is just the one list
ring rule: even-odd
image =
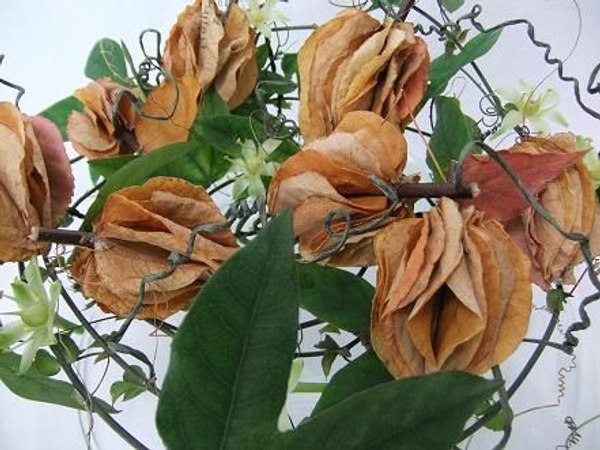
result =
[{"label": "flat orange dried leaf with a wire loop across it", "polygon": [[187,76],[175,83],[155,87],[142,107],[144,115],[137,116],[135,136],[144,153],[188,139],[198,114],[200,85]]}]

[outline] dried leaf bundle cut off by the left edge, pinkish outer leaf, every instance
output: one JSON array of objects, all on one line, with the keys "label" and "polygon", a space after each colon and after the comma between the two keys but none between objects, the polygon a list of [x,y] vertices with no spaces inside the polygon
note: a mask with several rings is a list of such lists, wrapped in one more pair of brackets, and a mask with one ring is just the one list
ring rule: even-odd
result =
[{"label": "dried leaf bundle cut off by the left edge, pinkish outer leaf", "polygon": [[0,261],[25,261],[49,245],[27,239],[31,227],[54,227],[73,195],[73,175],[50,121],[23,117],[0,102]]}]

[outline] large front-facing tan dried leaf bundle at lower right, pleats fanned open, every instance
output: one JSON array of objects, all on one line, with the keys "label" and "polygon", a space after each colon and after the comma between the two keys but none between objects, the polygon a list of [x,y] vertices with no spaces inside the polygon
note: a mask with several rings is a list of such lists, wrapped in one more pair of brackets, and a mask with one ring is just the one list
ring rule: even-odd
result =
[{"label": "large front-facing tan dried leaf bundle at lower right, pleats fanned open", "polygon": [[422,218],[388,225],[375,252],[371,339],[395,377],[484,373],[522,341],[529,260],[499,222],[442,198]]}]

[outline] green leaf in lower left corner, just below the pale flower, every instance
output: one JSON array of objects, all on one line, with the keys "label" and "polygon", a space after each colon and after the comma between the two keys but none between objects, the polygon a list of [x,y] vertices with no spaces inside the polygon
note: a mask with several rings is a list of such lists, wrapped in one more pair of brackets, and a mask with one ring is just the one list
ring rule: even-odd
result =
[{"label": "green leaf in lower left corner, just below the pale flower", "polygon": [[[55,380],[39,372],[32,366],[23,375],[18,375],[21,357],[15,353],[0,353],[0,381],[14,394],[28,400],[55,405],[66,406],[85,410],[85,404],[81,401],[75,388],[69,383]],[[101,402],[103,408],[110,412],[117,412],[108,403]]]}]

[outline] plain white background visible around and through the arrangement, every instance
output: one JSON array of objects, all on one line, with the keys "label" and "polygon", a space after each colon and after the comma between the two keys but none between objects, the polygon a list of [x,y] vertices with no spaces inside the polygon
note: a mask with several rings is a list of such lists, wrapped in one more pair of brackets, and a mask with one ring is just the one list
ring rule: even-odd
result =
[{"label": "plain white background visible around and through the arrangement", "polygon": [[[430,10],[432,3],[429,0],[421,1],[419,5]],[[559,58],[564,58],[575,43],[579,21],[571,0],[487,0],[482,3],[485,7],[482,20],[486,24],[507,18],[529,17],[536,25],[539,37],[552,44],[554,54]],[[600,62],[600,3],[594,0],[581,0],[580,3],[582,35],[566,67],[568,73],[585,77],[585,84],[587,74]],[[21,109],[34,114],[87,83],[83,75],[83,66],[97,39],[123,39],[133,50],[136,48],[139,32],[145,28],[157,28],[166,36],[178,12],[183,10],[185,5],[186,2],[182,0],[1,0],[0,53],[4,53],[6,58],[0,66],[0,77],[27,89]],[[293,18],[294,24],[321,23],[335,11],[325,0],[290,0],[288,4],[282,5]],[[463,8],[462,11],[466,10],[467,8]],[[413,20],[418,20],[417,17],[411,16]],[[291,43],[297,46],[305,36],[303,33],[294,33],[290,37]],[[139,53],[134,52],[134,55],[139,56]],[[514,86],[521,78],[538,82],[551,71],[548,66],[542,64],[543,51],[536,49],[526,40],[524,27],[505,31],[493,55],[492,58],[484,59],[481,65],[495,87]],[[477,111],[478,98],[469,88],[463,89],[463,84],[464,82],[459,80],[454,84],[451,93],[460,95],[467,109]],[[562,93],[560,109],[568,118],[571,130],[589,135],[600,142],[598,122],[577,109],[572,101],[570,86],[559,83],[555,77],[550,77],[544,86],[553,87]],[[588,96],[586,99],[596,109],[600,109],[600,100],[597,97]],[[12,91],[0,87],[0,100],[12,101]],[[426,125],[423,121],[422,126]],[[422,145],[418,140],[411,139],[411,167],[422,167],[421,150]],[[83,189],[84,187],[79,187],[79,191]],[[6,289],[14,272],[10,267],[2,267],[0,275],[0,289]],[[580,298],[585,290],[584,285],[577,291],[576,299]],[[573,320],[572,311],[576,307],[576,301],[568,307],[564,319],[565,326]],[[543,298],[538,296],[536,302],[543,305]],[[597,374],[600,373],[600,358],[597,356],[600,307],[592,305],[589,313],[592,321],[597,322],[596,327],[578,334],[581,344],[576,352],[577,368],[565,375],[566,391],[560,406],[538,409],[517,417],[513,439],[508,448],[554,449],[556,445],[564,444],[568,435],[568,429],[563,423],[566,416],[572,416],[577,423],[582,423],[600,414],[600,387],[597,382]],[[529,337],[539,337],[547,319],[547,314],[543,311],[534,312]],[[166,369],[169,341],[151,334],[152,329],[149,326],[140,325],[131,339],[136,345],[146,349],[147,354],[155,355],[156,366],[161,376]],[[560,336],[555,336],[555,340],[560,341]],[[518,373],[532,348],[531,344],[523,344],[520,351],[504,365],[503,369],[509,379]],[[512,402],[515,412],[556,403],[559,371],[562,373],[570,362],[570,357],[556,350],[547,350],[530,379]],[[79,369],[89,386],[93,387],[101,380],[104,368],[104,365],[98,364],[82,365]],[[114,375],[118,372],[112,372],[112,368],[109,368],[109,377],[111,373]],[[305,380],[319,378],[317,366],[310,366],[305,371]],[[101,385],[101,393],[106,392],[106,384]],[[302,416],[307,405],[314,401],[314,398],[307,399],[310,396],[306,395],[293,397],[292,407],[296,408],[296,414],[299,416]],[[116,418],[132,434],[152,449],[163,448],[154,428],[155,402],[150,395],[118,406],[123,408],[123,412]],[[89,429],[89,418],[85,415],[79,416],[59,407],[21,400],[0,386],[2,450],[81,449],[86,447],[83,434]],[[579,444],[572,448],[598,448],[600,421],[582,428],[581,435]],[[93,448],[128,448],[97,418],[93,421],[91,436]],[[469,448],[492,448],[498,439],[497,434],[481,436]]]}]

